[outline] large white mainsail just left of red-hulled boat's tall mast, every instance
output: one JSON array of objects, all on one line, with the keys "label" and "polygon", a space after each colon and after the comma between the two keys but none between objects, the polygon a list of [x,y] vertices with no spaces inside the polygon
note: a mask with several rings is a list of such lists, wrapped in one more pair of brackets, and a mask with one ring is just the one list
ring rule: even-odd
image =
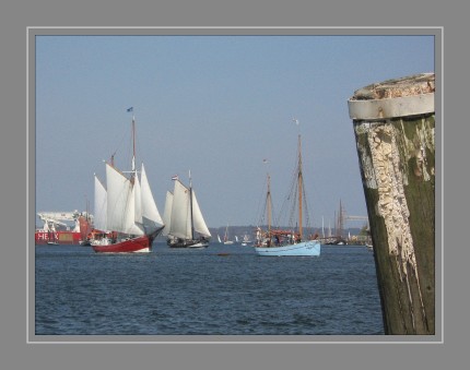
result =
[{"label": "large white mainsail just left of red-hulled boat's tall mast", "polygon": [[129,179],[106,164],[107,182],[107,229],[130,234],[144,235],[136,225],[134,187]]}]

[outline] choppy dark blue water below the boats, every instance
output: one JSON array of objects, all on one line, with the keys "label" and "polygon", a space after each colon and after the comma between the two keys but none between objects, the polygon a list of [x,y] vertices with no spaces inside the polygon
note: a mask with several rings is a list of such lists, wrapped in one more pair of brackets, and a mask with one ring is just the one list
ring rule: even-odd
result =
[{"label": "choppy dark blue water below the boats", "polygon": [[384,326],[365,247],[266,258],[218,243],[155,243],[148,254],[37,246],[35,334],[380,335]]}]

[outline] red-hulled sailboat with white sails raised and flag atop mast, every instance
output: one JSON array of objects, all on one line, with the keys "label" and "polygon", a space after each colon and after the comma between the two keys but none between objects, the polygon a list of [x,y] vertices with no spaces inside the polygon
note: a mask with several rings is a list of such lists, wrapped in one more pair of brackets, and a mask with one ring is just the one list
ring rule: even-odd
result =
[{"label": "red-hulled sailboat with white sails raised and flag atop mast", "polygon": [[[130,108],[129,108],[130,109]],[[129,110],[128,111],[131,111]],[[129,176],[106,165],[106,184],[95,175],[95,237],[90,241],[97,253],[150,252],[164,225],[142,164],[136,169],[136,119],[132,115],[133,153]]]}]

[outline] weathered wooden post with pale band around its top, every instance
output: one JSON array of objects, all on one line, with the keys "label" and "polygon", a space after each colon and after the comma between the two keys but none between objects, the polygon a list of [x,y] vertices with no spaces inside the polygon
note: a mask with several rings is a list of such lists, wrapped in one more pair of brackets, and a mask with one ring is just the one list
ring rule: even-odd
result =
[{"label": "weathered wooden post with pale band around its top", "polygon": [[386,334],[435,334],[434,77],[373,84],[348,102]]}]

